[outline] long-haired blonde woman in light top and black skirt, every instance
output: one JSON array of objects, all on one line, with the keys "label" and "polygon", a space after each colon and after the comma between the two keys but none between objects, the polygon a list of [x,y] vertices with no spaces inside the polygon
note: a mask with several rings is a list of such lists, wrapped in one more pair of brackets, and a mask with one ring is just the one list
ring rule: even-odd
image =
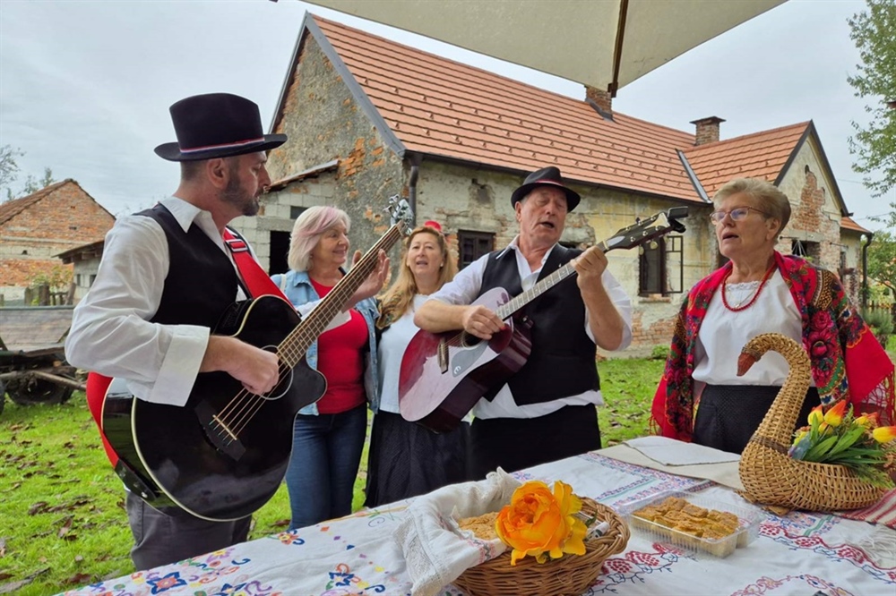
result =
[{"label": "long-haired blonde woman in light top and black skirt", "polygon": [[467,480],[469,425],[436,434],[401,418],[398,384],[401,358],[418,332],[414,311],[457,273],[441,226],[428,221],[409,235],[398,278],[380,300],[376,327],[381,392],[370,432],[365,505],[376,507]]}]

